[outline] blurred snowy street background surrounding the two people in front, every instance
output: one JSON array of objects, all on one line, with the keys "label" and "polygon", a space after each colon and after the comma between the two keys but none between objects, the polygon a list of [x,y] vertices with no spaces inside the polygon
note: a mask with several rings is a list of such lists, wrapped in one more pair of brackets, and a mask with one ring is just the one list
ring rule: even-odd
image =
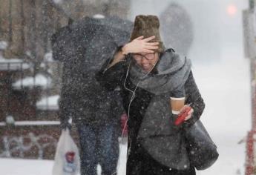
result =
[{"label": "blurred snowy street background surrounding the two people in front", "polygon": [[206,102],[201,119],[220,153],[197,174],[254,173],[254,0],[0,0],[1,174],[51,174],[63,66],[53,60],[53,33],[86,16],[133,22],[139,14],[159,16],[165,46],[192,60]]}]

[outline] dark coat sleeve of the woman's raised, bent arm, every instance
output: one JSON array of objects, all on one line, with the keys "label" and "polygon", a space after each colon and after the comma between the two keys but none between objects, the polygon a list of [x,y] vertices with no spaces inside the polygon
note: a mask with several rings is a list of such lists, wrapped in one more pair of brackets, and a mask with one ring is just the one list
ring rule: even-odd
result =
[{"label": "dark coat sleeve of the woman's raised, bent arm", "polygon": [[[116,50],[118,49],[119,47]],[[112,59],[113,58],[107,59],[99,72],[96,73],[96,80],[107,90],[114,90],[118,86],[121,87],[122,79],[125,76],[125,71],[127,70],[125,62],[118,62],[116,65],[108,68]]]}]

